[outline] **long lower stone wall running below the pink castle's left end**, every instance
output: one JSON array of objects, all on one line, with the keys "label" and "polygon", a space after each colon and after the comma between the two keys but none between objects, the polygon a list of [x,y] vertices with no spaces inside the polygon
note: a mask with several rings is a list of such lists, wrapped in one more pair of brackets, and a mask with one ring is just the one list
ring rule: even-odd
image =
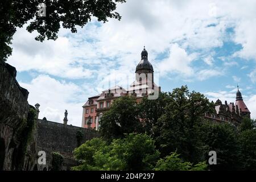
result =
[{"label": "long lower stone wall running below the pink castle's left end", "polygon": [[[81,132],[81,140],[77,140],[77,134]],[[59,152],[64,156],[63,170],[69,170],[76,165],[73,159],[73,150],[86,140],[100,137],[97,131],[82,127],[64,125],[57,122],[38,119],[37,151],[46,152],[46,165],[38,165],[38,170],[51,168],[51,152]]]}]

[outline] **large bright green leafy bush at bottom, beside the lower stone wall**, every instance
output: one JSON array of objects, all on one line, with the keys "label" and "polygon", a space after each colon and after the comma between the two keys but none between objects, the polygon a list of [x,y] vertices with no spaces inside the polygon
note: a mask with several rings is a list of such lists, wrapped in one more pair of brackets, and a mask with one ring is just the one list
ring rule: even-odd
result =
[{"label": "large bright green leafy bush at bottom, beside the lower stone wall", "polygon": [[80,165],[73,170],[150,170],[159,158],[154,140],[146,134],[129,134],[108,144],[94,138],[74,151]]}]

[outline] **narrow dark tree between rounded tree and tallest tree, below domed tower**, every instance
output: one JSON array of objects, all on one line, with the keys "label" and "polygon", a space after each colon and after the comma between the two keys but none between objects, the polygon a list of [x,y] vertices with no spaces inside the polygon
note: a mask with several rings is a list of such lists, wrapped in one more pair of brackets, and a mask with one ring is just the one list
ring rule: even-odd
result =
[{"label": "narrow dark tree between rounded tree and tallest tree, below domed tower", "polygon": [[[148,100],[144,97],[139,103],[139,118],[142,119],[144,130],[147,134],[152,136],[159,135],[159,126],[157,126],[158,119],[164,114],[164,107],[168,103],[168,94],[164,92],[159,93],[156,100]],[[155,130],[153,129],[155,127]],[[154,132],[153,132],[154,131]]]}]

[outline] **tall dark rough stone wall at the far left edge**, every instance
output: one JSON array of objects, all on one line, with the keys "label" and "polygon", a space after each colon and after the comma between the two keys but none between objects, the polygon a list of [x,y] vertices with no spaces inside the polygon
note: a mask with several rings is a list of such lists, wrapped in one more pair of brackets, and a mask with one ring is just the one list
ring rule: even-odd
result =
[{"label": "tall dark rough stone wall at the far left edge", "polygon": [[16,81],[16,69],[0,60],[0,170],[15,169],[20,134],[26,127],[28,91]]}]

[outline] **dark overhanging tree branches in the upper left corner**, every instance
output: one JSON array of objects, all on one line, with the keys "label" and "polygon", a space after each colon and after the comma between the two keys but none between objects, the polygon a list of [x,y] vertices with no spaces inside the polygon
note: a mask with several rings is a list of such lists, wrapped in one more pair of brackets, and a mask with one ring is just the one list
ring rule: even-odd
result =
[{"label": "dark overhanging tree branches in the upper left corner", "polygon": [[[39,4],[46,5],[46,16],[40,16]],[[11,40],[16,32],[16,27],[22,27],[28,21],[27,31],[37,31],[36,40],[57,39],[60,23],[64,28],[70,28],[71,32],[77,32],[76,26],[83,27],[92,16],[104,23],[108,18],[120,20],[121,16],[116,9],[117,3],[125,0],[87,0],[87,1],[41,1],[41,0],[1,0],[0,1],[0,59],[6,61],[11,55]]]}]

